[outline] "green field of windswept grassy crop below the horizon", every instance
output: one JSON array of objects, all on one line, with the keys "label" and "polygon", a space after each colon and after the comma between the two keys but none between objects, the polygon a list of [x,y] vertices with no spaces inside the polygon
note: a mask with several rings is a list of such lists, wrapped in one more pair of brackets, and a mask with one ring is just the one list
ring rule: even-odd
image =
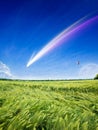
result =
[{"label": "green field of windswept grassy crop below the horizon", "polygon": [[98,130],[98,80],[1,80],[0,130]]}]

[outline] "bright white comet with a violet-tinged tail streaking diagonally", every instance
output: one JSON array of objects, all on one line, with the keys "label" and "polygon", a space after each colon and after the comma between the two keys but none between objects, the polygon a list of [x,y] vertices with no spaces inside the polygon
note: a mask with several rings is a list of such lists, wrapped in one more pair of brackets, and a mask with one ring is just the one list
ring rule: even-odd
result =
[{"label": "bright white comet with a violet-tinged tail streaking diagonally", "polygon": [[81,31],[88,25],[92,24],[94,21],[98,20],[98,15],[84,21],[86,17],[87,16],[76,21],[74,24],[72,24],[64,31],[62,31],[60,34],[58,34],[55,38],[53,38],[49,43],[47,43],[34,57],[30,58],[30,60],[27,63],[27,67],[38,61],[45,54],[52,51],[57,46],[61,45],[62,43],[65,43],[67,39],[70,39],[77,32]]}]

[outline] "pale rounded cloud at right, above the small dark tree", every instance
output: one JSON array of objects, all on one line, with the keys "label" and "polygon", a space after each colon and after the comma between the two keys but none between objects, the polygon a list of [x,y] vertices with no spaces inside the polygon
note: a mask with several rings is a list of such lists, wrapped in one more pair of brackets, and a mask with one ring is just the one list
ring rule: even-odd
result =
[{"label": "pale rounded cloud at right, above the small dark tree", "polygon": [[89,79],[94,78],[98,73],[98,64],[89,63],[83,65],[79,70],[79,78]]}]

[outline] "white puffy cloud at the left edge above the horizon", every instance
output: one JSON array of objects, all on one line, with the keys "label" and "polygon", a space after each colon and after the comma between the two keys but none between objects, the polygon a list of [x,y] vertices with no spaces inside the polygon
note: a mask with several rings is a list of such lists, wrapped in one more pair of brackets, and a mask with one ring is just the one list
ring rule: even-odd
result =
[{"label": "white puffy cloud at the left edge above the horizon", "polygon": [[0,61],[0,78],[12,78],[10,68]]}]

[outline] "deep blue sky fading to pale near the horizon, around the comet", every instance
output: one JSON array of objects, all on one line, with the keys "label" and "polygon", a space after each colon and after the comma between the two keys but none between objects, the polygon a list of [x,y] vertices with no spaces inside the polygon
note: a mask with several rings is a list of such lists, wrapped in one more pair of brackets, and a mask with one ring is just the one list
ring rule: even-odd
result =
[{"label": "deep blue sky fading to pale near the horizon, around the comet", "polygon": [[26,67],[33,53],[92,13],[98,15],[98,0],[0,1],[0,73],[7,70],[23,79],[93,77],[98,73],[98,21]]}]

